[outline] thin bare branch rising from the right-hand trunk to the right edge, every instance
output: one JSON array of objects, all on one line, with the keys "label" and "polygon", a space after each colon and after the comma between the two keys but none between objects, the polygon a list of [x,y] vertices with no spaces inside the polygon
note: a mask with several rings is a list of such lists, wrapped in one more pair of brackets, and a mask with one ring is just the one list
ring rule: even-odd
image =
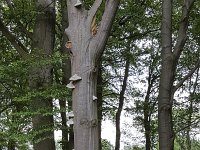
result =
[{"label": "thin bare branch rising from the right-hand trunk to the right edge", "polygon": [[199,67],[199,65],[200,65],[200,59],[197,61],[195,67],[194,67],[192,70],[190,70],[190,72],[189,72],[181,81],[179,81],[179,83],[174,87],[173,93],[175,93],[176,90],[177,90],[179,87],[181,87],[181,86],[183,85],[183,83],[184,83],[189,77],[192,76],[192,74],[196,71],[196,69]]}]

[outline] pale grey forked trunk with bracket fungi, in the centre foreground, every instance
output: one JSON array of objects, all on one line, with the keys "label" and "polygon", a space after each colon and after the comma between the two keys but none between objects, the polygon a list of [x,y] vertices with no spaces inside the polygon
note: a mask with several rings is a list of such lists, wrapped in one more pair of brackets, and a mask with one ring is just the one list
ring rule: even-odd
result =
[{"label": "pale grey forked trunk with bracket fungi, in the centre foreground", "polygon": [[69,27],[65,30],[72,47],[72,76],[77,74],[81,80],[74,81],[72,91],[74,112],[74,149],[98,150],[99,134],[97,118],[97,65],[103,53],[109,31],[116,14],[119,0],[106,1],[104,14],[98,32],[93,34],[91,25],[102,0],[95,0],[89,11],[84,5],[75,6],[76,1],[67,0]]}]

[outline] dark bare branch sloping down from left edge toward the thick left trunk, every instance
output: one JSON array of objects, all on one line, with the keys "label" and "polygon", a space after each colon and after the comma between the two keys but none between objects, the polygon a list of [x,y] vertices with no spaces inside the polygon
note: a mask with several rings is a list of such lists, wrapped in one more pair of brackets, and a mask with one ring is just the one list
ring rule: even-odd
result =
[{"label": "dark bare branch sloping down from left edge toward the thick left trunk", "polygon": [[0,18],[0,31],[2,31],[2,34],[10,41],[10,43],[14,46],[14,48],[22,57],[25,57],[28,54],[27,53],[28,50],[19,41],[19,39],[8,30],[8,28],[3,24],[1,18]]}]

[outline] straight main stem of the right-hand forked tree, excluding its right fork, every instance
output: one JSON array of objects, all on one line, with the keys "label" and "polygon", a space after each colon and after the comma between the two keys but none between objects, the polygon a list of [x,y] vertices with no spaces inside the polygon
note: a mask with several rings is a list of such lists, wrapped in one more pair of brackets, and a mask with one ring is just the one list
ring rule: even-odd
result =
[{"label": "straight main stem of the right-hand forked tree, excluding its right fork", "polygon": [[159,85],[158,127],[159,149],[173,150],[172,131],[172,86],[174,81],[174,64],[172,56],[172,1],[162,3],[162,69]]}]

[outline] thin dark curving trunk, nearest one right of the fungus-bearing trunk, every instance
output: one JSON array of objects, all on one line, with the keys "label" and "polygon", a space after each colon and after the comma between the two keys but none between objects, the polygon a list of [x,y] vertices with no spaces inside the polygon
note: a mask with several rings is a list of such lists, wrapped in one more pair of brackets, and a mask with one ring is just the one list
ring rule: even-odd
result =
[{"label": "thin dark curving trunk, nearest one right of the fungus-bearing trunk", "polygon": [[128,80],[128,73],[129,73],[129,59],[127,58],[126,64],[125,64],[125,74],[124,74],[124,79],[122,83],[122,90],[119,95],[119,106],[117,109],[116,113],[116,140],[115,140],[115,150],[120,149],[120,138],[121,138],[121,131],[120,131],[120,117],[121,117],[121,112],[123,110],[123,105],[124,105],[124,94],[126,91],[126,86],[127,86],[127,80]]}]

